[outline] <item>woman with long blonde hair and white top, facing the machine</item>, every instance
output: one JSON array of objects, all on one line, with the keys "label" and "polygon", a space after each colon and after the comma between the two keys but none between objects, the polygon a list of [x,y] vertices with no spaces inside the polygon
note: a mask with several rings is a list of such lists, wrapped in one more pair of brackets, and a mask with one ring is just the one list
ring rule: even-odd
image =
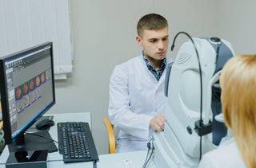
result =
[{"label": "woman with long blonde hair and white top, facing the machine", "polygon": [[222,69],[222,111],[230,139],[198,167],[256,167],[256,55],[233,57]]}]

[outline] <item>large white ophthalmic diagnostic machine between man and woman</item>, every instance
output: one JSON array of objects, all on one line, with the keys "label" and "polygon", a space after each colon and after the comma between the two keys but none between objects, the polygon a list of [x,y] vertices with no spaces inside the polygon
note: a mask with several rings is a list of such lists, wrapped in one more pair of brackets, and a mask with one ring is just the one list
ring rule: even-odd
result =
[{"label": "large white ophthalmic diagnostic machine between man and woman", "polygon": [[197,167],[202,154],[227,139],[218,80],[231,57],[230,43],[217,37],[190,37],[180,47],[167,67],[165,129],[154,132],[148,166]]}]

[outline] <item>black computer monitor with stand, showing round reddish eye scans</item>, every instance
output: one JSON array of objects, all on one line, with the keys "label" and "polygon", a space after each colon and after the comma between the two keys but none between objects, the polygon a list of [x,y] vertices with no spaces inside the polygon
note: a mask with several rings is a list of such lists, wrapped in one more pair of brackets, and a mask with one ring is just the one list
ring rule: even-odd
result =
[{"label": "black computer monitor with stand, showing round reddish eye scans", "polygon": [[25,134],[55,104],[52,42],[1,57],[0,91],[4,138],[10,152],[56,151],[48,131]]}]

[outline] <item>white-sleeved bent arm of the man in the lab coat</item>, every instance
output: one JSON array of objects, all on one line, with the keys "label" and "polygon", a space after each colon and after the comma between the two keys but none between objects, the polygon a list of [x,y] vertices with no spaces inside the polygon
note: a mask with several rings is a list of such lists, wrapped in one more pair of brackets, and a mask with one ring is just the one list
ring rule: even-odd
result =
[{"label": "white-sleeved bent arm of the man in the lab coat", "polygon": [[153,119],[153,116],[137,114],[130,110],[128,77],[126,67],[117,66],[114,68],[110,78],[110,120],[114,127],[118,127],[127,134],[139,139],[148,139],[150,120]]}]

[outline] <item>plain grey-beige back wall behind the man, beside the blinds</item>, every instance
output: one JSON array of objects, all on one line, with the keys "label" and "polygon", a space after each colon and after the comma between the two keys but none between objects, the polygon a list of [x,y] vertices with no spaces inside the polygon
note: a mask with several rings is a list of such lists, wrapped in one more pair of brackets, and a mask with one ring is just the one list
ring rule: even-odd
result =
[{"label": "plain grey-beige back wall behind the man, beside the blinds", "polygon": [[[216,36],[218,1],[211,0],[72,0],[71,36],[74,72],[56,83],[57,104],[50,112],[90,111],[92,132],[99,154],[108,153],[106,127],[109,82],[114,65],[138,56],[136,24],[144,14],[158,13],[170,24],[170,43],[179,31],[192,37]],[[182,44],[186,37],[180,37]],[[174,53],[167,53],[175,57]]]}]

